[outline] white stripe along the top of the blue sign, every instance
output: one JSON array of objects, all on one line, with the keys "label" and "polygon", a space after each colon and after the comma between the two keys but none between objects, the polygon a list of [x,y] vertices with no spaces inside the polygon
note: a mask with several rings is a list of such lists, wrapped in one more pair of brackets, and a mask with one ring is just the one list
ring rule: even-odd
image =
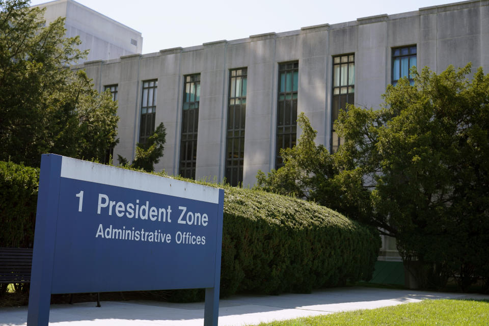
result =
[{"label": "white stripe along the top of the blue sign", "polygon": [[219,189],[63,156],[61,177],[219,203]]}]

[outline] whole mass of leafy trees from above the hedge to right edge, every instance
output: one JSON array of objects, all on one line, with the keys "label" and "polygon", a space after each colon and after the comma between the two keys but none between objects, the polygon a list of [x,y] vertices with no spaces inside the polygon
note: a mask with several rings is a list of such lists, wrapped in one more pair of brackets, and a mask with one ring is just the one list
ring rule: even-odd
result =
[{"label": "whole mass of leafy trees from above the hedge to right edge", "polygon": [[395,237],[422,287],[454,277],[465,290],[483,277],[489,289],[489,76],[479,68],[469,80],[470,68],[413,71],[415,86],[389,86],[379,110],[349,106],[333,155],[301,118],[304,138],[259,185]]}]

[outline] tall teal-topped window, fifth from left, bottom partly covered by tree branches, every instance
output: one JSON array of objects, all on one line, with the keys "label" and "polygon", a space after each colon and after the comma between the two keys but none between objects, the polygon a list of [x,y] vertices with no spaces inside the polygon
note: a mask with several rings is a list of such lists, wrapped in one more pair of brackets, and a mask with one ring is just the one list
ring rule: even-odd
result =
[{"label": "tall teal-topped window, fifth from left, bottom partly covered by tree branches", "polygon": [[295,146],[297,134],[297,86],[299,63],[279,65],[279,88],[277,101],[277,146],[275,169],[284,165],[280,150]]}]

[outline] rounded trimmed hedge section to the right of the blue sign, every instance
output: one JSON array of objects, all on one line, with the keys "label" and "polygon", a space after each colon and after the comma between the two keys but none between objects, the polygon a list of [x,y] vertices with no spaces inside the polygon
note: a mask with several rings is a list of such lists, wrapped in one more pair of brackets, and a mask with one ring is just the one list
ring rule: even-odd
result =
[{"label": "rounded trimmed hedge section to the right of the blue sign", "polygon": [[221,291],[278,294],[369,280],[378,233],[323,206],[225,188]]}]

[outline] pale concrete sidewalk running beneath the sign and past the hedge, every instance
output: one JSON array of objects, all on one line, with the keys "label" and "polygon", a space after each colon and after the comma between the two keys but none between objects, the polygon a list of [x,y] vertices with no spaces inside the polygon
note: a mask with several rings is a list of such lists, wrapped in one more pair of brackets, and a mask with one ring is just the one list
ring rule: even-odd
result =
[{"label": "pale concrete sidewalk running beneath the sign and past the hedge", "polygon": [[[254,325],[262,321],[373,309],[440,298],[489,299],[489,295],[363,287],[324,289],[311,294],[239,295],[220,301],[219,325]],[[101,308],[96,308],[93,302],[51,305],[49,324],[200,326],[204,323],[203,318],[204,303],[105,301]],[[26,320],[27,307],[0,308],[0,325],[25,325]]]}]

